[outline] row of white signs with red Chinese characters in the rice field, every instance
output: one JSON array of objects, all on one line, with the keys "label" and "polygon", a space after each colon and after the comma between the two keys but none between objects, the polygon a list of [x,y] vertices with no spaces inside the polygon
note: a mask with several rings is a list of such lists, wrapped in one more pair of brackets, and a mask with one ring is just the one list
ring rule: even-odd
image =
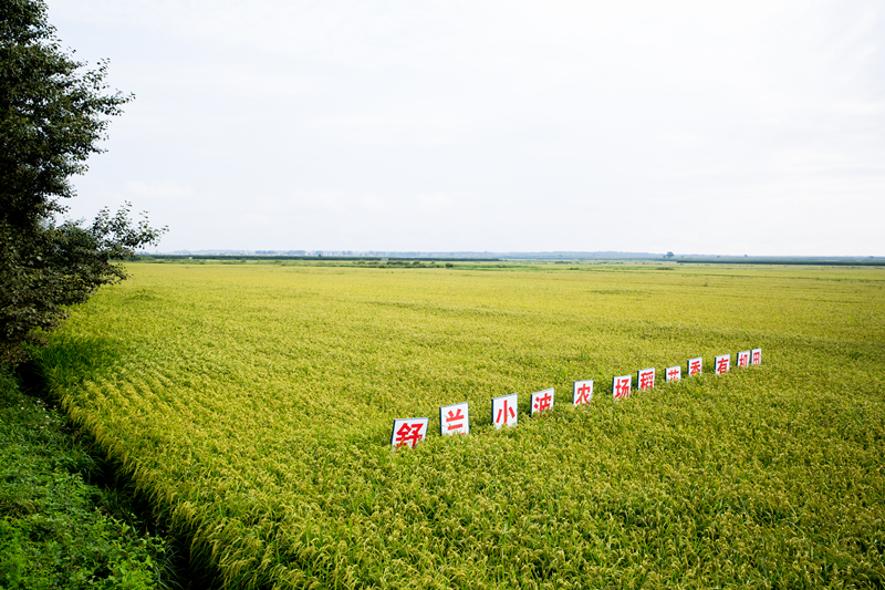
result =
[{"label": "row of white signs with red Chinese characters in the rice field", "polygon": [[[738,366],[749,366],[751,364],[762,364],[762,349],[741,351],[737,354]],[[686,374],[688,376],[700,375],[704,365],[704,358],[688,359],[686,362]],[[731,355],[722,354],[716,356],[712,363],[712,371],[717,375],[728,373],[731,369]],[[657,374],[654,368],[642,369],[636,372],[636,389],[648,391],[655,387]],[[668,366],[664,370],[664,379],[667,382],[679,381],[683,377],[683,368]],[[633,389],[633,375],[622,375],[612,379],[612,395],[615,400],[629,397]],[[518,395],[502,395],[491,401],[491,421],[496,428],[513,426],[517,423],[517,401]],[[531,394],[531,413],[538,414],[553,407],[553,387]],[[593,397],[593,380],[575,381],[572,386],[572,403],[574,405],[589,404]],[[394,432],[391,436],[391,446],[414,447],[427,436],[427,424],[430,418],[397,418],[394,420]],[[447,405],[439,408],[439,429],[444,436],[452,434],[470,433],[470,405],[468,402]]]}]

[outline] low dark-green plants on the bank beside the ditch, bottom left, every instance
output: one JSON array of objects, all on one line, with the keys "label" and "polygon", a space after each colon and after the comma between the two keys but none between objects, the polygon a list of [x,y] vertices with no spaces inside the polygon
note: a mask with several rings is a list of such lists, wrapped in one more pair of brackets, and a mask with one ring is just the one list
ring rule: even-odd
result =
[{"label": "low dark-green plants on the bank beside the ditch, bottom left", "polygon": [[159,588],[168,542],[96,508],[69,429],[0,373],[0,589]]}]

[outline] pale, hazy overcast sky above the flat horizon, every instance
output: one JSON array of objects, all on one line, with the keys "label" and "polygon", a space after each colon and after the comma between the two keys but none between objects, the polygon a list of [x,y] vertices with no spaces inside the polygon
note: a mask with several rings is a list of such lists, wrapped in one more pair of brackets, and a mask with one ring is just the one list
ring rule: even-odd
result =
[{"label": "pale, hazy overcast sky above the flat horizon", "polygon": [[158,251],[885,256],[881,0],[48,6]]}]

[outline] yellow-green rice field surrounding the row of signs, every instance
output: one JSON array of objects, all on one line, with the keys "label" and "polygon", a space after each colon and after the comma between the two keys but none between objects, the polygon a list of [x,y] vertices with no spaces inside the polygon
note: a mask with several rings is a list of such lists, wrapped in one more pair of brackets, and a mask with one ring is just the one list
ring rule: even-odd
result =
[{"label": "yellow-green rice field surrounding the row of signs", "polygon": [[[885,583],[883,269],[129,270],[42,363],[231,588]],[[701,355],[701,377],[611,397]],[[494,431],[511,392],[519,425]],[[439,436],[462,401],[471,434]],[[413,416],[430,436],[392,451]]]}]

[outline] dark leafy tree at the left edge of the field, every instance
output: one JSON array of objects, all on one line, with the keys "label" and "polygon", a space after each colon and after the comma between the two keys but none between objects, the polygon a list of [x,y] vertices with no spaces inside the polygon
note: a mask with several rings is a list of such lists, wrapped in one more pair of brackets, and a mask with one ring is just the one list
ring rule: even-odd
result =
[{"label": "dark leafy tree at the left edge of the field", "polygon": [[[95,220],[58,222],[71,177],[103,152],[110,117],[134,96],[107,92],[97,69],[62,51],[44,0],[0,0],[0,364],[24,358],[102,284],[126,277],[114,260],[156,244],[166,228],[129,219],[131,204]],[[144,215],[144,214],[143,214]]]}]

